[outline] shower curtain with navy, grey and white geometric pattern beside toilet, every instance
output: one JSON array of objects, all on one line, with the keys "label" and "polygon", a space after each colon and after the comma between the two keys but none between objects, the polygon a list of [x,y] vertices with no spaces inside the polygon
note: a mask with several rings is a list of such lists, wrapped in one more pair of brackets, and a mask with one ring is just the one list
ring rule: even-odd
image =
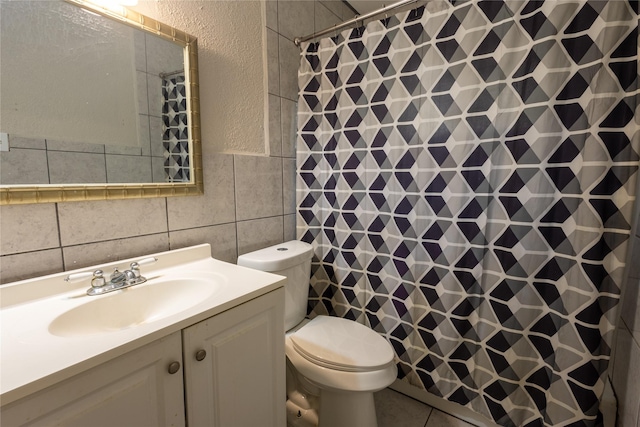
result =
[{"label": "shower curtain with navy, grey and white geometric pattern beside toilet", "polygon": [[311,316],[504,426],[596,426],[640,153],[631,1],[441,1],[302,46]]}]

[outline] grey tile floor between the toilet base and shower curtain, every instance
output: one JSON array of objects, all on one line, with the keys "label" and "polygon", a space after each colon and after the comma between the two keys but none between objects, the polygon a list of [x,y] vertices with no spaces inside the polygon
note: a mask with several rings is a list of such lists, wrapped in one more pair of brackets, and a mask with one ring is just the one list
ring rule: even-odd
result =
[{"label": "grey tile floor between the toilet base and shower curtain", "polygon": [[378,427],[473,427],[391,389],[374,394]]}]

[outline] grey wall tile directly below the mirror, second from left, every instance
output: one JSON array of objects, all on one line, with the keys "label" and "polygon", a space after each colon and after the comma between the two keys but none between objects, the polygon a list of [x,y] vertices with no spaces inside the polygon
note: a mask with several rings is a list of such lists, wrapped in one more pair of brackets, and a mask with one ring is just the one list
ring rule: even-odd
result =
[{"label": "grey wall tile directly below the mirror, second from left", "polygon": [[164,198],[59,203],[58,215],[63,246],[168,231]]}]

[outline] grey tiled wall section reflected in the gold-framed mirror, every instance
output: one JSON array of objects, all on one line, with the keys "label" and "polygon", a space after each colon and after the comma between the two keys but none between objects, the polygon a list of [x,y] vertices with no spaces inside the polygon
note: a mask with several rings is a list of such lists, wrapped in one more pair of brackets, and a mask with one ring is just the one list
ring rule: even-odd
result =
[{"label": "grey tiled wall section reflected in the gold-framed mirror", "polygon": [[165,182],[160,73],[182,67],[182,50],[174,45],[169,54],[161,55],[170,42],[140,32],[134,37],[138,146],[10,135],[11,150],[0,153],[0,183]]}]

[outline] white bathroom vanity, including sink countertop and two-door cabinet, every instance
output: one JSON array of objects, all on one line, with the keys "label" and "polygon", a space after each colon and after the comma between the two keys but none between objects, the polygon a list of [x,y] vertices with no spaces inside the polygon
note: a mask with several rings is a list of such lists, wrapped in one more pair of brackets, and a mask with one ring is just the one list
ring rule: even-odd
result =
[{"label": "white bathroom vanity, including sink countertop and two-door cabinet", "polygon": [[[210,254],[0,287],[2,425],[285,425],[286,279]],[[145,283],[87,295],[92,272],[141,259]]]}]

